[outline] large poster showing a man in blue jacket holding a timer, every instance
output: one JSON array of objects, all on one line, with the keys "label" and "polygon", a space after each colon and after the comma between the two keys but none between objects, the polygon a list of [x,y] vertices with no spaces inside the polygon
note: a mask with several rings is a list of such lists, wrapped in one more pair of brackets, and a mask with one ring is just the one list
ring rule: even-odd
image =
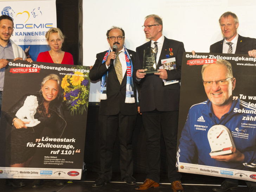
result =
[{"label": "large poster showing a man in blue jacket holding a timer", "polygon": [[256,181],[255,100],[256,58],[184,53],[179,172]]}]

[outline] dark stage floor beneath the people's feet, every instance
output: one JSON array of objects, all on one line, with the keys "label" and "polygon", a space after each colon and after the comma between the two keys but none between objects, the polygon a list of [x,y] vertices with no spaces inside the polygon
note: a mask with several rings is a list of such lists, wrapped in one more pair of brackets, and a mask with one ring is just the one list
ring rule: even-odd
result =
[{"label": "dark stage floor beneath the people's feet", "polygon": [[[185,192],[211,192],[211,188],[219,185],[224,179],[218,177],[211,177],[206,175],[196,175],[182,173],[183,178],[181,182],[183,183]],[[121,182],[120,175],[117,173],[113,174],[112,182],[104,185],[103,187],[91,187],[91,184],[98,177],[95,172],[85,172],[81,180],[69,181],[65,185],[56,186],[52,180],[44,180],[42,186],[38,188],[32,188],[31,183],[33,180],[26,179],[26,186],[15,188],[12,186],[5,185],[5,179],[0,179],[0,191],[1,192],[128,192],[137,191],[135,190],[136,185],[127,185]],[[143,183],[145,180],[145,174],[134,174],[138,184]],[[160,176],[161,185],[157,188],[150,188],[146,190],[147,192],[169,192],[172,191],[171,185],[168,183],[167,176],[161,174]],[[229,192],[229,191],[227,191]],[[239,189],[233,192],[249,192],[249,188],[246,186],[243,180],[239,181]]]}]

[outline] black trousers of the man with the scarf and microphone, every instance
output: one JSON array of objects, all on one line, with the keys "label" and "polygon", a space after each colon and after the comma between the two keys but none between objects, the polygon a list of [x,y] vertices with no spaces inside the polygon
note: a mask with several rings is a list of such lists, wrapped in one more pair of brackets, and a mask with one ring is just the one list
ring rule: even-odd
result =
[{"label": "black trousers of the man with the scarf and microphone", "polygon": [[112,177],[113,148],[118,132],[121,179],[133,174],[132,136],[137,115],[99,115],[100,177],[110,181]]}]

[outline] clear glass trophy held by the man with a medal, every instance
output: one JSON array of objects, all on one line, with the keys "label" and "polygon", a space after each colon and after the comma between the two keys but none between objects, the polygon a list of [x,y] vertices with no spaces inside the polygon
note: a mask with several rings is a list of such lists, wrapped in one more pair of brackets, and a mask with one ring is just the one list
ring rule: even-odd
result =
[{"label": "clear glass trophy held by the man with a medal", "polygon": [[151,47],[147,47],[144,50],[143,69],[145,70],[145,72],[141,72],[141,73],[158,73],[159,72],[156,70],[155,52],[154,52],[154,49]]}]

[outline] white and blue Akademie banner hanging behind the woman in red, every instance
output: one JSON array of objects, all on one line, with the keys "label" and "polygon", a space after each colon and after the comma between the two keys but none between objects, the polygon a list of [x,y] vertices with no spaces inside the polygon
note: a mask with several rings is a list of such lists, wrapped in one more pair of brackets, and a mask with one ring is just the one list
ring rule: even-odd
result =
[{"label": "white and blue Akademie banner hanging behind the woman in red", "polygon": [[30,47],[32,60],[37,60],[40,52],[48,51],[45,34],[57,26],[55,0],[1,1],[0,15],[13,19],[11,39],[24,51]]}]

